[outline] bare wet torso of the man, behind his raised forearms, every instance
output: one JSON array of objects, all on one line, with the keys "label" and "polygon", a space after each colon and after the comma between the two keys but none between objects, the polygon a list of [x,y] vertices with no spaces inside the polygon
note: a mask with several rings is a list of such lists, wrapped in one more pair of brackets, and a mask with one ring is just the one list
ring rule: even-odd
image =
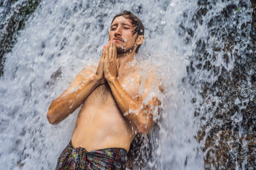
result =
[{"label": "bare wet torso of the man, behind his raised forearms", "polygon": [[[131,97],[138,98],[141,76],[137,70],[119,72],[118,81]],[[99,85],[84,101],[77,116],[72,145],[87,151],[103,148],[129,150],[136,128],[123,116],[108,83]]]}]

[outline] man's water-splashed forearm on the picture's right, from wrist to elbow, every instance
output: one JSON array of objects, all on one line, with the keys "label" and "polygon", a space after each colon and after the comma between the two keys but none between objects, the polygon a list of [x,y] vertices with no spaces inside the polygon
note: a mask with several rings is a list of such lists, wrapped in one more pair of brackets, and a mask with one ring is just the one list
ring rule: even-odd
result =
[{"label": "man's water-splashed forearm on the picture's right, from wrist to elbow", "polygon": [[148,133],[148,130],[150,130],[153,125],[153,117],[151,112],[149,112],[149,108],[146,105],[142,105],[138,100],[133,99],[123,89],[117,78],[108,80],[108,84],[124,116],[136,125],[140,133]]}]

